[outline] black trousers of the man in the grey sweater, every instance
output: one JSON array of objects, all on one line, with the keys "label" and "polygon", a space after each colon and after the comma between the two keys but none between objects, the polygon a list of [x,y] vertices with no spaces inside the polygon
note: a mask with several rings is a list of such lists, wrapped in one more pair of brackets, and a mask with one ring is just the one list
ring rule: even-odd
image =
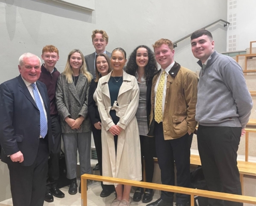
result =
[{"label": "black trousers of the man in the grey sweater", "polygon": [[[198,127],[198,150],[210,191],[242,195],[237,168],[241,127]],[[243,203],[209,199],[210,206],[240,206]]]}]

